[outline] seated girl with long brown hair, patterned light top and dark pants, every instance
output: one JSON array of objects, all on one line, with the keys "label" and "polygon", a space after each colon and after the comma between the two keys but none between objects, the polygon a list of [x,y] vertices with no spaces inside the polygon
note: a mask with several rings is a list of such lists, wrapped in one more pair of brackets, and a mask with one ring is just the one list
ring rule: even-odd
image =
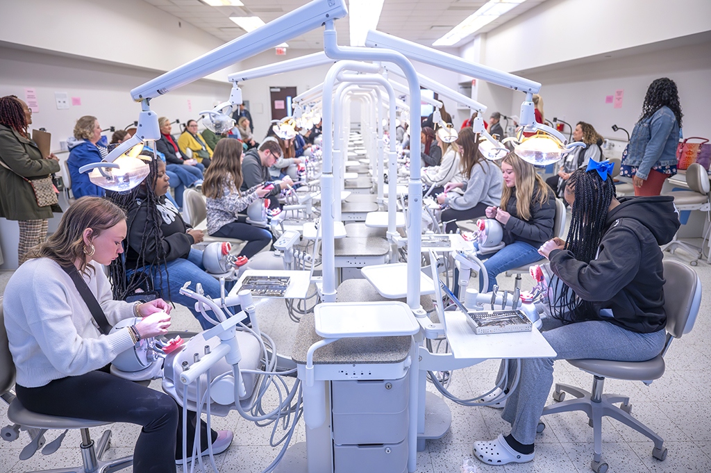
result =
[{"label": "seated girl with long brown hair, patterned light top and dark pants", "polygon": [[205,171],[203,183],[203,194],[208,198],[208,234],[247,240],[240,256],[251,258],[271,243],[272,233],[246,223],[239,213],[271,190],[265,190],[263,184],[257,184],[242,194],[239,191],[240,186],[242,143],[237,139],[221,139],[215,146],[213,162]]}]

